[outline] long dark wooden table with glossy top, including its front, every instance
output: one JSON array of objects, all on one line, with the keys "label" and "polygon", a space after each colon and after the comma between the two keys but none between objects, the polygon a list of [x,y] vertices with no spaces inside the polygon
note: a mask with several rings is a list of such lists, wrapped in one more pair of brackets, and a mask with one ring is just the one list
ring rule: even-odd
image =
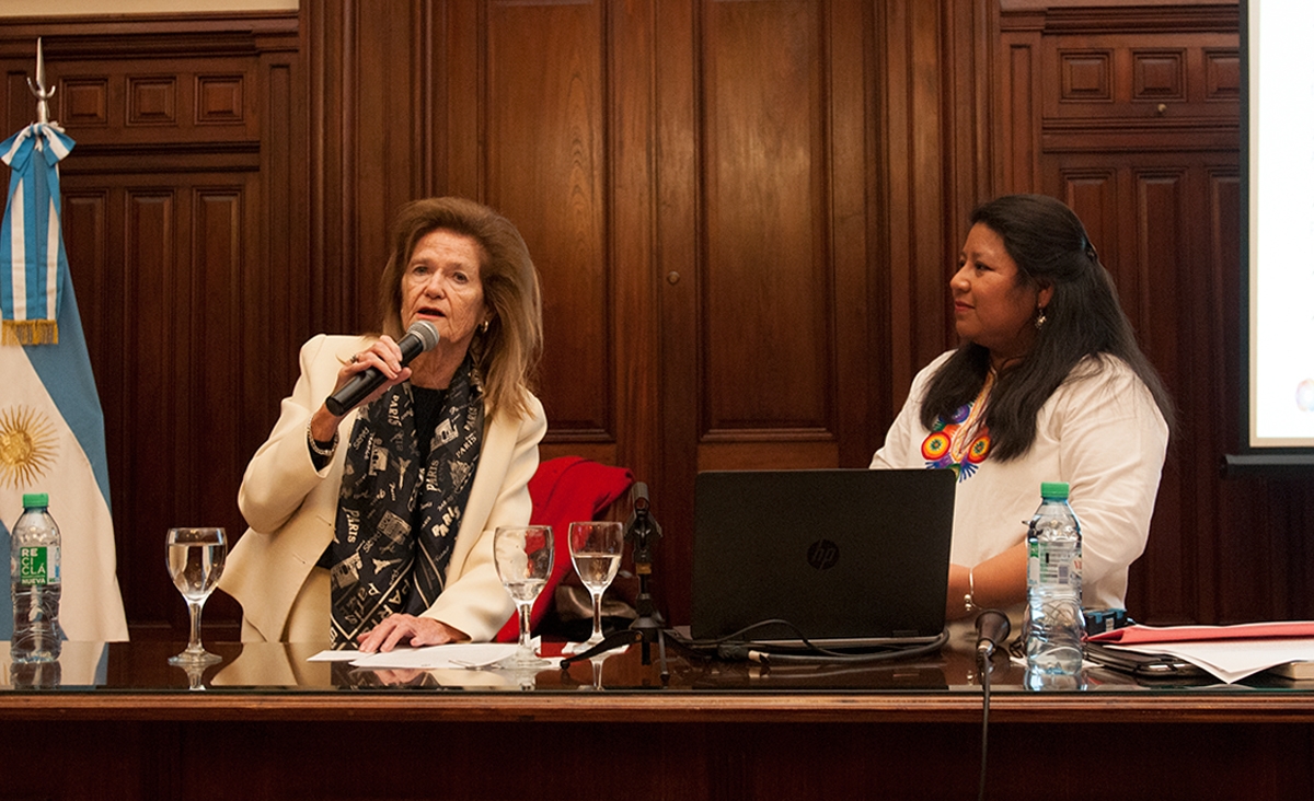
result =
[{"label": "long dark wooden table with glossy top, including its front", "polygon": [[[602,691],[587,662],[526,691],[487,671],[347,676],[304,662],[318,645],[208,647],[225,662],[200,692],[166,663],[179,645],[150,642],[108,646],[99,680],[66,666],[59,689],[0,691],[0,798],[976,796],[983,693],[954,651],[862,670],[677,657],[664,685],[632,650],[603,664]],[[989,797],[1314,788],[1314,692],[1298,683],[1020,680],[993,674]],[[50,784],[22,784],[38,764]]]}]

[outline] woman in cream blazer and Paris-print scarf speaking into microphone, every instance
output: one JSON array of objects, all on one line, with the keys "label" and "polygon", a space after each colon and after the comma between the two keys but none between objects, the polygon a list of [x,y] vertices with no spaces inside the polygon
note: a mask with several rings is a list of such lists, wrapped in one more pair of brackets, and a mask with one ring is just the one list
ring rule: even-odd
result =
[{"label": "woman in cream blazer and Paris-print scarf speaking into microphone", "polygon": [[[390,249],[382,332],[302,345],[242,479],[251,528],[219,586],[242,604],[244,641],[484,641],[512,612],[493,532],[528,523],[547,431],[528,389],[537,273],[515,226],[460,198],[403,206]],[[403,365],[398,340],[420,320],[438,344]],[[369,369],[382,382],[359,406],[325,403]]]}]

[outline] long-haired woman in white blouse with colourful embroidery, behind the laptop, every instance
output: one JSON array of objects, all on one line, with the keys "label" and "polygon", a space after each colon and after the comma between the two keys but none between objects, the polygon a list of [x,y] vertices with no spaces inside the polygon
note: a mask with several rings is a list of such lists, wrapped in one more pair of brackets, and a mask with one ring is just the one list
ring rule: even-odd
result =
[{"label": "long-haired woman in white blouse with colourful embroidery, behind the laptop", "polygon": [[1067,482],[1083,605],[1122,607],[1144,550],[1172,402],[1076,214],[1039,194],[972,213],[950,280],[962,344],[913,381],[872,467],[958,473],[949,620],[1021,615],[1026,521]]}]

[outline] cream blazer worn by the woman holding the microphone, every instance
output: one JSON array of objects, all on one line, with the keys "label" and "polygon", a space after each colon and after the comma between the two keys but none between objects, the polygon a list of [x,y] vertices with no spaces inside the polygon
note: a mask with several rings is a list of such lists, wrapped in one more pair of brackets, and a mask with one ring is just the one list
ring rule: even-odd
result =
[{"label": "cream blazer worn by the woman holding the microphone", "polygon": [[[242,604],[243,641],[286,641],[289,633],[306,632],[323,632],[322,641],[328,639],[326,573],[318,571],[313,580],[311,570],[334,538],[346,441],[356,412],[339,424],[338,450],[323,470],[310,461],[306,425],[332,393],[342,364],[369,341],[319,335],[302,345],[301,378],[242,478],[238,506],[251,528],[229,554],[219,588]],[[480,464],[445,588],[423,613],[473,641],[491,639],[515,609],[493,563],[493,532],[530,521],[528,483],[548,423],[539,399],[526,395],[527,418],[485,416]]]}]

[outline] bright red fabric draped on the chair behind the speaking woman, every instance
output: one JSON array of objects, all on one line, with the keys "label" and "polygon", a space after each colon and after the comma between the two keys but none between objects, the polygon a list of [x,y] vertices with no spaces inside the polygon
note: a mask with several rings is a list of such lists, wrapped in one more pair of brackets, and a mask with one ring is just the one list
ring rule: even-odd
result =
[{"label": "bright red fabric draped on the chair behind the speaking woman", "polygon": [[[566,529],[577,520],[593,520],[607,509],[635,481],[624,467],[611,467],[579,456],[562,456],[539,465],[530,479],[530,499],[533,511],[530,523],[551,525],[553,534],[552,576],[530,612],[531,630],[547,615],[556,595],[557,584],[570,570],[570,546]],[[497,634],[497,642],[515,642],[520,638],[516,615],[506,621]]]}]

